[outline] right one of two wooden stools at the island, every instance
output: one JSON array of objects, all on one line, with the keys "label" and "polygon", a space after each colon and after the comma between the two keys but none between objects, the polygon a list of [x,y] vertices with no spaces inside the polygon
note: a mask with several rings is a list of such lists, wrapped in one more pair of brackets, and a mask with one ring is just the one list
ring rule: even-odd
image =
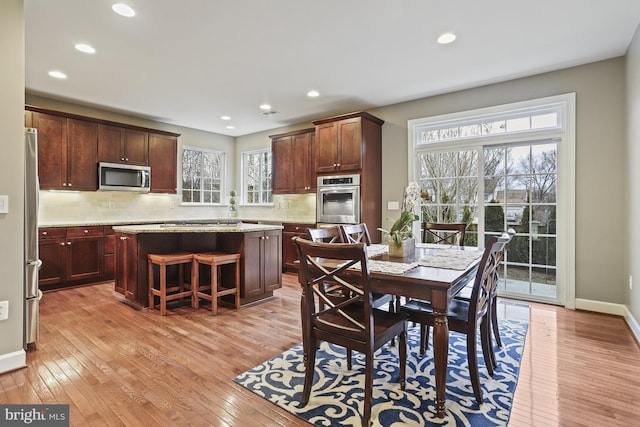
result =
[{"label": "right one of two wooden stools at the island", "polygon": [[[211,267],[211,282],[200,283],[200,265]],[[235,264],[235,283],[232,288],[222,287],[222,266]],[[235,295],[235,308],[240,307],[240,254],[202,253],[193,254],[191,268],[191,283],[193,284],[193,306],[198,308],[200,298],[211,301],[211,314],[218,314],[218,298],[224,295]],[[210,293],[204,291],[209,290]],[[223,303],[223,301],[221,301]]]}]

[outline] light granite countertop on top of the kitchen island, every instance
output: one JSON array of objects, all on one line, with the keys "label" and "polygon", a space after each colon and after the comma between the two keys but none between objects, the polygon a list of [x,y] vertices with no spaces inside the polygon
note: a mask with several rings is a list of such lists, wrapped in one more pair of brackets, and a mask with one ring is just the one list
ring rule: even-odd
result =
[{"label": "light granite countertop on top of the kitchen island", "polygon": [[119,225],[113,227],[114,231],[122,233],[248,233],[251,231],[282,230],[281,225],[270,224],[140,224]]}]

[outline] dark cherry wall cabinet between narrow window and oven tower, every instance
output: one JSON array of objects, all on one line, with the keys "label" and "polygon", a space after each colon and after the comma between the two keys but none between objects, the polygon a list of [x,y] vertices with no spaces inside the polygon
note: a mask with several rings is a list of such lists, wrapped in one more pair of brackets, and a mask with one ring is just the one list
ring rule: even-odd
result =
[{"label": "dark cherry wall cabinet between narrow window and oven tower", "polygon": [[273,193],[316,190],[315,129],[271,135]]}]

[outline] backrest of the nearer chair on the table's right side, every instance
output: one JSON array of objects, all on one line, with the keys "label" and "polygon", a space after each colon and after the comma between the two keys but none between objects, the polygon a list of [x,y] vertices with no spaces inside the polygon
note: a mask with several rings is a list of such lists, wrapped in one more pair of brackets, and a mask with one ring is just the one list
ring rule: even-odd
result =
[{"label": "backrest of the nearer chair on the table's right side", "polygon": [[479,324],[489,309],[507,242],[505,239],[492,237],[482,254],[469,300],[468,322],[473,325]]}]

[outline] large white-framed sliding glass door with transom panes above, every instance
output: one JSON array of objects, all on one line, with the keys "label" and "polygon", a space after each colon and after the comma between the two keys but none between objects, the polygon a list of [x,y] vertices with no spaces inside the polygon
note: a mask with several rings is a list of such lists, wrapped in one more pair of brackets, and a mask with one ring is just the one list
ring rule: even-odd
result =
[{"label": "large white-framed sliding glass door with transom panes above", "polygon": [[421,220],[466,223],[468,246],[512,229],[499,294],[573,308],[575,95],[410,120],[409,129]]}]

